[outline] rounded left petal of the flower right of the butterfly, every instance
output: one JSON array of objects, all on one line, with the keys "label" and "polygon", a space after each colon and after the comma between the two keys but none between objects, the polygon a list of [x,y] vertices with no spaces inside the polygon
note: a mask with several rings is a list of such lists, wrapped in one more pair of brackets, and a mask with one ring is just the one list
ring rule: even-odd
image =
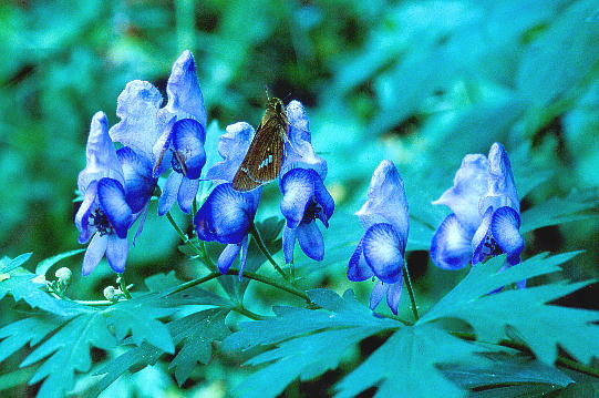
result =
[{"label": "rounded left petal of the flower right of the butterfly", "polygon": [[320,177],[308,169],[293,169],[281,178],[281,213],[288,227],[296,228],[303,220],[306,205],[314,194],[314,178]]}]

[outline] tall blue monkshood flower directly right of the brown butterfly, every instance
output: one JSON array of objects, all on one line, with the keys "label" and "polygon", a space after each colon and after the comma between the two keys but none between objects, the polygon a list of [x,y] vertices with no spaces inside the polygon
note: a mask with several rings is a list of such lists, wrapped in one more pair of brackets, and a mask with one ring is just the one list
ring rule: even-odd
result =
[{"label": "tall blue monkshood flower directly right of the brown butterfly", "polygon": [[334,201],[323,184],[327,162],[314,153],[302,104],[291,101],[287,105],[287,115],[289,142],[279,181],[283,195],[281,213],[287,218],[282,234],[285,262],[293,262],[296,241],[308,257],[322,261],[324,242],[316,220],[328,228],[334,211]]}]

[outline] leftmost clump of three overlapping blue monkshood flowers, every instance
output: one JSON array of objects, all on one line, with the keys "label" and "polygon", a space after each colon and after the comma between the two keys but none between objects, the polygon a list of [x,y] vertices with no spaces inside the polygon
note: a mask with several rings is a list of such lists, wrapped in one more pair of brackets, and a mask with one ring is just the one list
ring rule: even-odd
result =
[{"label": "leftmost clump of three overlapping blue monkshood flowers", "polygon": [[[175,198],[189,212],[206,162],[206,110],[189,51],[174,63],[166,91],[168,101],[161,108],[163,98],[154,85],[132,81],[118,95],[118,123],[109,130],[102,112],[92,120],[86,166],[78,181],[83,203],[75,216],[80,243],[92,239],[83,261],[84,275],[104,254],[116,273],[124,271],[128,229],[141,218],[136,236],[142,232],[158,176],[168,169],[173,173],[161,195],[158,214],[168,212]],[[118,151],[114,142],[122,145]]]}]

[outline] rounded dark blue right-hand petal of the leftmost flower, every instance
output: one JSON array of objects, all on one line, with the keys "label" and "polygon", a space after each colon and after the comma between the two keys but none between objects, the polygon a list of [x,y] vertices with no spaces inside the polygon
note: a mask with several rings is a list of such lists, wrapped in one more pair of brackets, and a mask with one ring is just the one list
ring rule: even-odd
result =
[{"label": "rounded dark blue right-hand petal of the leftmost flower", "polygon": [[133,223],[133,213],[126,202],[123,185],[113,178],[100,180],[97,183],[97,200],[116,235],[125,238]]}]

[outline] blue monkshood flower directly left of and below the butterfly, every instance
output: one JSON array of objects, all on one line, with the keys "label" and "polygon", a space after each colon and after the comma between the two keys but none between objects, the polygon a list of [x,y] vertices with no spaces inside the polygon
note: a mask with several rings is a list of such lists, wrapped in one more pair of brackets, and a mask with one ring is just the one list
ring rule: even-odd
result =
[{"label": "blue monkshood flower directly left of and below the butterfly", "polygon": [[227,126],[220,136],[218,153],[224,159],[206,173],[207,178],[218,185],[210,192],[206,202],[194,217],[197,236],[206,242],[219,242],[227,246],[218,257],[218,269],[225,274],[240,255],[239,277],[246,266],[248,233],[254,224],[261,196],[261,187],[249,192],[238,192],[231,182],[241,164],[251,140],[254,127],[245,122]]}]

